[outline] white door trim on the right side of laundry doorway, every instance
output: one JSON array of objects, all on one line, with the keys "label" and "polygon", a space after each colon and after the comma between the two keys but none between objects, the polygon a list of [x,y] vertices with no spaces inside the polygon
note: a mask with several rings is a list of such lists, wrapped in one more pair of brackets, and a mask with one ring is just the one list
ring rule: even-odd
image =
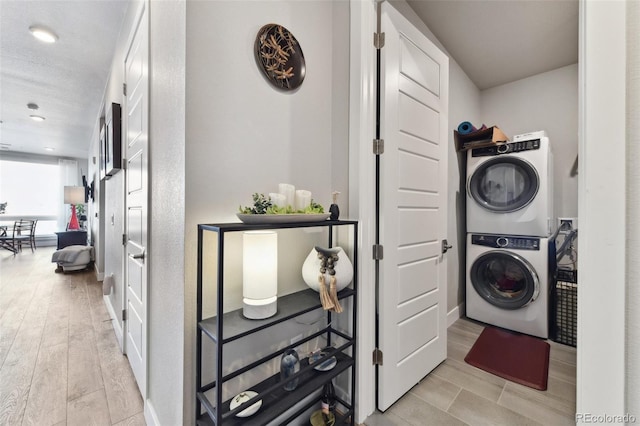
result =
[{"label": "white door trim on the right side of laundry doorway", "polygon": [[578,424],[626,411],[625,9],[580,1]]}]

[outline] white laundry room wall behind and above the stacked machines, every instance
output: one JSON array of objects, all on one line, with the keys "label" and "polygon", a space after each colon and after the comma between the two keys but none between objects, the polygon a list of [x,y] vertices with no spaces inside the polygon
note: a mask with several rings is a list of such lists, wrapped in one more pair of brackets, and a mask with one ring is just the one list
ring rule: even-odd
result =
[{"label": "white laundry room wall behind and above the stacked machines", "polygon": [[570,176],[578,155],[578,64],[483,90],[482,120],[511,139],[546,130],[554,160],[556,215],[578,214],[578,178]]}]

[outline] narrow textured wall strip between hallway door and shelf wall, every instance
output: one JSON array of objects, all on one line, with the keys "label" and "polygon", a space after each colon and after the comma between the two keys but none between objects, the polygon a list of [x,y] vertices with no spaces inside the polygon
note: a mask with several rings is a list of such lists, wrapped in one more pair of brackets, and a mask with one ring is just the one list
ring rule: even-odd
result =
[{"label": "narrow textured wall strip between hallway door and shelf wall", "polygon": [[[185,0],[149,2],[149,279],[145,418],[183,420],[185,390]],[[167,29],[171,31],[167,31]],[[191,348],[190,348],[191,349]],[[188,382],[193,371],[186,370]]]}]

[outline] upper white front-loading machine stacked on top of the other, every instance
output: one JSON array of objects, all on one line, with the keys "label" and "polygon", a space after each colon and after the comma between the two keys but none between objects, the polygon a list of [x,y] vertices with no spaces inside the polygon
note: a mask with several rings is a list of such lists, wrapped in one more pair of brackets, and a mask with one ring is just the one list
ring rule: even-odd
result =
[{"label": "upper white front-loading machine stacked on top of the other", "polygon": [[545,132],[467,151],[467,232],[547,237],[554,216]]}]

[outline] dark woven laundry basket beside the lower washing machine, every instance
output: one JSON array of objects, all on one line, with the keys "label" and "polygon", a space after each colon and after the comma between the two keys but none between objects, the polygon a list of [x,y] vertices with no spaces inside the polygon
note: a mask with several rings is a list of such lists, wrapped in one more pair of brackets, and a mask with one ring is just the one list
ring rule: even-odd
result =
[{"label": "dark woven laundry basket beside the lower washing machine", "polygon": [[551,294],[551,340],[576,347],[578,337],[578,271],[558,269]]}]

